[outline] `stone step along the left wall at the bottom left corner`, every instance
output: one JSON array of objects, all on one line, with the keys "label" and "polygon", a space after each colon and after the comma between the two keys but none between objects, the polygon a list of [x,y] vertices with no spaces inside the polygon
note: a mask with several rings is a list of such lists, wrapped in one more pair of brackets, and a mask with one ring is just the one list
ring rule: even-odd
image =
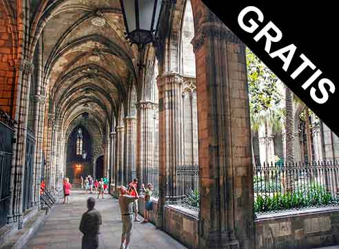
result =
[{"label": "stone step along the left wall at the bottom left corner", "polygon": [[21,249],[25,243],[34,235],[39,226],[47,217],[46,210],[39,210],[32,218],[23,224],[23,228],[14,235],[0,249]]}]

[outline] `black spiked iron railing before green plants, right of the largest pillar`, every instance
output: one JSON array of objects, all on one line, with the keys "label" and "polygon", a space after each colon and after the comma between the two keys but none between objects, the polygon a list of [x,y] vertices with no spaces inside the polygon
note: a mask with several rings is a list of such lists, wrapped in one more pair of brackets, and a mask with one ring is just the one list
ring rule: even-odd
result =
[{"label": "black spiked iron railing before green plants, right of the largest pillar", "polygon": [[256,213],[338,204],[338,162],[271,163],[254,167]]}]

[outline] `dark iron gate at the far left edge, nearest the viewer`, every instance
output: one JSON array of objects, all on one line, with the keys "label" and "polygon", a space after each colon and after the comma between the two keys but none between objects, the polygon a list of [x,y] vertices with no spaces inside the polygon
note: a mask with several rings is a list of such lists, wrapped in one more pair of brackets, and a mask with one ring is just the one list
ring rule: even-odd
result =
[{"label": "dark iron gate at the far left edge, nearest the viewer", "polygon": [[6,225],[10,210],[10,171],[12,165],[13,135],[14,130],[0,121],[0,228]]}]

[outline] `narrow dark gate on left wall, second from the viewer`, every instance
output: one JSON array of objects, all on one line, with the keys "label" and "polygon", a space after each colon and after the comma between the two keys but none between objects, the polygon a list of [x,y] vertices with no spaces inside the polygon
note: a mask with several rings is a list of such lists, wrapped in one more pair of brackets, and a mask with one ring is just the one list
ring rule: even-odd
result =
[{"label": "narrow dark gate on left wall, second from the viewer", "polygon": [[27,132],[25,175],[23,177],[23,211],[32,208],[34,138]]}]

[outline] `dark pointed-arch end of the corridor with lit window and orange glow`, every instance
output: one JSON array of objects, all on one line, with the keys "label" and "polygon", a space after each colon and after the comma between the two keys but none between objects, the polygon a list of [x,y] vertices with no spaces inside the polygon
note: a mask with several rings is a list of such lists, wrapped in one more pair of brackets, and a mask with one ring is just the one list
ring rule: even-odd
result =
[{"label": "dark pointed-arch end of the corridor with lit window and orange glow", "polygon": [[80,177],[93,174],[92,140],[83,126],[75,127],[70,133],[67,144],[66,175],[72,184],[78,184]]}]

